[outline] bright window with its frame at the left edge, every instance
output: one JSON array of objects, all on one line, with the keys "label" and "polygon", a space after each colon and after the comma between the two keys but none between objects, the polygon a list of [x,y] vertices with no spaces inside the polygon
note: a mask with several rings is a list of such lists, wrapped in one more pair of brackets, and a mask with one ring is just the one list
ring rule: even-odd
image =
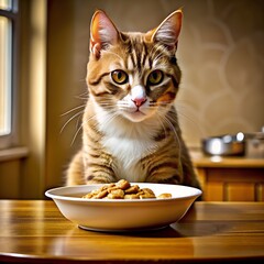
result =
[{"label": "bright window with its frame at the left edge", "polygon": [[16,0],[0,0],[0,148],[10,146],[14,138],[16,11]]}]

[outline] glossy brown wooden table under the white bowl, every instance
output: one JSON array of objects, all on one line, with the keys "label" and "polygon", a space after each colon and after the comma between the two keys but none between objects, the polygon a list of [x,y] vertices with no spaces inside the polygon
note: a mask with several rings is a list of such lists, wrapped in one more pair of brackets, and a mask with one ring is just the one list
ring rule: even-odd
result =
[{"label": "glossy brown wooden table under the white bowl", "polygon": [[178,223],[160,231],[103,233],[79,229],[51,200],[0,200],[0,262],[264,260],[264,202],[197,201]]}]

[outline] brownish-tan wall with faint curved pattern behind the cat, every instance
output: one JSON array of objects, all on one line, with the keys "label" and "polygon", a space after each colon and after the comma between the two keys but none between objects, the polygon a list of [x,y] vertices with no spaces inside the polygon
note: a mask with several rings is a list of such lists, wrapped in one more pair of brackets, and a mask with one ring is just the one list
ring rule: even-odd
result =
[{"label": "brownish-tan wall with faint curved pattern behind the cat", "polygon": [[204,136],[257,131],[264,124],[264,1],[47,1],[46,188],[63,184],[62,172],[80,146],[77,107],[87,97],[94,11],[106,10],[120,30],[147,31],[179,7],[183,82],[176,106],[187,144],[199,146]]}]

